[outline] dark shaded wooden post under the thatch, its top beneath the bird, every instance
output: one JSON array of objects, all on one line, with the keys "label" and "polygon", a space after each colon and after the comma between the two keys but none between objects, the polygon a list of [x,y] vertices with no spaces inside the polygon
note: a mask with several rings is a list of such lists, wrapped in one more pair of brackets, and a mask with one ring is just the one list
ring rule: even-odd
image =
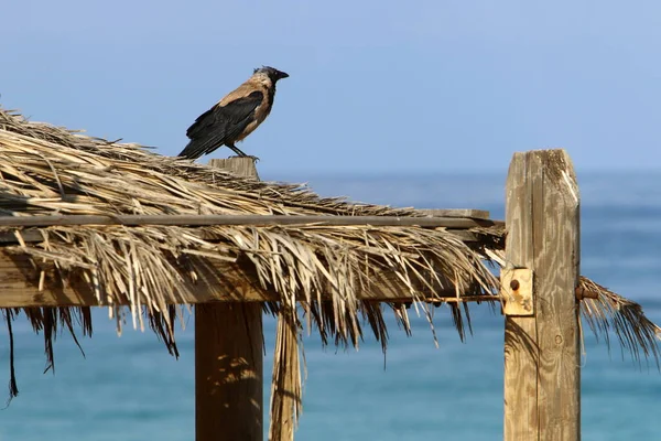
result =
[{"label": "dark shaded wooden post under the thatch, its top beneath the bird", "polygon": [[[256,176],[250,158],[209,165]],[[261,303],[195,306],[195,440],[263,439]]]}]

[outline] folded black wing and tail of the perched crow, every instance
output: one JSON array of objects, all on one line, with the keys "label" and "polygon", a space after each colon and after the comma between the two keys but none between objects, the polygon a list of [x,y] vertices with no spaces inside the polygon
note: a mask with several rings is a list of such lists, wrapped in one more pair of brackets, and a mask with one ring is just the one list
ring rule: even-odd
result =
[{"label": "folded black wing and tail of the perched crow", "polygon": [[202,114],[186,130],[191,142],[178,155],[196,159],[226,142],[232,142],[254,119],[254,110],[263,98],[263,93],[254,90],[248,96],[225,106],[216,105]]}]

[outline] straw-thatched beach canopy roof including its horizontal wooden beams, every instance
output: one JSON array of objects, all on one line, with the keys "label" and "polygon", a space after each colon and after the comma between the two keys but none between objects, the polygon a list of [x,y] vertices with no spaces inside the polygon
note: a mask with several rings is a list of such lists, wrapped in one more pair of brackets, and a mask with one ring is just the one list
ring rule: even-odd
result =
[{"label": "straw-thatched beach canopy roof including its horizontal wooden beams", "polygon": [[[407,332],[411,311],[433,329],[431,311],[441,304],[463,337],[468,302],[500,308],[506,229],[477,212],[430,217],[321,197],[2,109],[0,216],[8,281],[0,306],[11,347],[20,344],[12,322],[24,315],[43,334],[50,363],[61,329],[75,337],[79,323],[90,333],[93,305],[110,308],[119,327],[124,319],[147,324],[176,354],[176,318],[188,305],[260,301],[299,330],[274,357],[296,364],[300,332],[357,346],[368,330],[386,349],[386,312]],[[659,327],[637,303],[587,278],[579,288],[594,293],[581,313],[597,335],[613,330],[635,358],[658,361]],[[300,406],[299,366],[285,365],[280,375],[297,385]],[[11,383],[15,395],[13,367]]]}]

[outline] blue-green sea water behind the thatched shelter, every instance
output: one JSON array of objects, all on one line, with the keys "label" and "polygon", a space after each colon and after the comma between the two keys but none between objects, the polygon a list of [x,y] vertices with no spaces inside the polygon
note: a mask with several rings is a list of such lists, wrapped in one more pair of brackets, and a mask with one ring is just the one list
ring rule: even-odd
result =
[{"label": "blue-green sea water behind the thatched shelter", "polygon": [[[420,208],[481,208],[505,216],[506,173],[314,175],[263,180],[307,182],[325,196]],[[661,172],[578,173],[581,272],[639,302],[661,323]],[[413,310],[411,310],[412,312]],[[390,313],[383,355],[369,334],[356,351],[304,338],[306,378],[297,440],[502,439],[503,316],[472,308],[473,333],[462,342],[447,310],[437,310],[438,347],[424,318],[413,335]],[[149,331],[129,324],[121,336],[106,310],[94,312],[85,356],[63,334],[55,370],[43,373],[44,346],[24,319],[15,331],[20,395],[0,410],[0,440],[194,440],[194,321],[177,329],[178,359]],[[587,326],[585,326],[587,329]],[[274,321],[264,318],[268,428]],[[0,383],[9,381],[9,342],[0,326]],[[0,389],[1,391],[2,389]],[[0,404],[2,401],[0,392]],[[661,373],[586,334],[582,358],[583,440],[661,440]],[[264,439],[267,439],[264,437]]]}]

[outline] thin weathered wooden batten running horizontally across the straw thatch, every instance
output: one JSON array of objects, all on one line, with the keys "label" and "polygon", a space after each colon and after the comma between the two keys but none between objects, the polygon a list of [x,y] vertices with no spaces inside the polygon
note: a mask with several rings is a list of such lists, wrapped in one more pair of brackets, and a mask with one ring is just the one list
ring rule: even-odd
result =
[{"label": "thin weathered wooden batten running horizontally across the straw thatch", "polygon": [[496,220],[468,217],[400,217],[400,216],[286,216],[286,215],[37,215],[2,216],[0,226],[4,227],[48,227],[63,225],[324,225],[324,226],[420,226],[446,228],[488,227]]}]

